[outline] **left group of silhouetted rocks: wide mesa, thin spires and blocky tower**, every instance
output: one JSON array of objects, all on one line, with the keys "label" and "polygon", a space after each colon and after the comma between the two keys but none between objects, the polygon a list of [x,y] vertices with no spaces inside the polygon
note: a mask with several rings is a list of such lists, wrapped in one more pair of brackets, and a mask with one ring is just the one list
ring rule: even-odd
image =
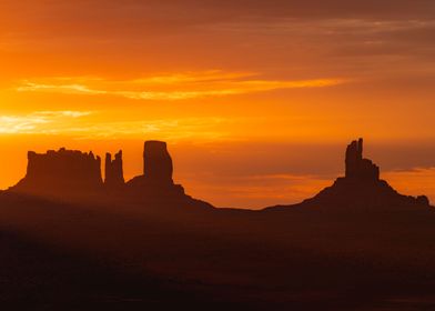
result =
[{"label": "left group of silhouetted rocks: wide mesa, thin spires and blocky tower", "polygon": [[10,190],[62,200],[191,200],[183,187],[173,182],[173,163],[165,142],[146,141],[143,160],[143,174],[125,182],[122,151],[114,158],[107,153],[103,181],[101,159],[92,152],[64,148],[44,154],[30,151],[26,177]]}]

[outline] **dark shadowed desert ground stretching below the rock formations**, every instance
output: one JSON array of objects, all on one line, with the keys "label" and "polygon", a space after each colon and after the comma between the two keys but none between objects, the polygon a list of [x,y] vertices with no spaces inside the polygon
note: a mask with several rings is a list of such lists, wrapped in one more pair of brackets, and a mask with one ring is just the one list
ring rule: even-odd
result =
[{"label": "dark shadowed desert ground stretching below the rock formations", "polygon": [[0,194],[2,310],[435,310],[435,213]]}]

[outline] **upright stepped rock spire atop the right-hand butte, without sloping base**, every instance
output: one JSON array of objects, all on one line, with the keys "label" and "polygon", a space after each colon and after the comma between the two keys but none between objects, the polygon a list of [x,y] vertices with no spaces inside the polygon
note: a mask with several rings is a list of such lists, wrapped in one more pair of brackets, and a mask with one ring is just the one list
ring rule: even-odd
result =
[{"label": "upright stepped rock spire atop the right-hand butte, without sloping base", "polygon": [[346,149],[346,179],[380,180],[380,168],[363,158],[363,139],[353,141]]}]

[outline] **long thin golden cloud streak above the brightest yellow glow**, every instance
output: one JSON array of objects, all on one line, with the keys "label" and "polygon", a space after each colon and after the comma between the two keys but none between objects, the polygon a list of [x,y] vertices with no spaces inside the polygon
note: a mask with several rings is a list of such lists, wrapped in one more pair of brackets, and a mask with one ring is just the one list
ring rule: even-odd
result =
[{"label": "long thin golden cloud streak above the brightest yellow glow", "polygon": [[[246,94],[284,89],[324,88],[344,83],[343,79],[267,80],[251,72],[211,70],[160,74],[125,81],[74,78],[23,81],[18,92],[49,92],[84,96],[114,96],[132,100],[188,100]],[[67,83],[68,82],[68,83]]]}]

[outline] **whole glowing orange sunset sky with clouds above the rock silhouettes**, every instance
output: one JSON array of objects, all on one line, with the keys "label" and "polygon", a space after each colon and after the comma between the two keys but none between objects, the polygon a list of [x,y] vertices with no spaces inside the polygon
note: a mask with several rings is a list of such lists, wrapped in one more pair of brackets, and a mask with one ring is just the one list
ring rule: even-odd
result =
[{"label": "whole glowing orange sunset sky with clouds above the rock silhouettes", "polygon": [[435,200],[435,3],[0,2],[0,187],[26,151],[170,143],[175,179],[222,207],[314,194],[345,144]]}]

